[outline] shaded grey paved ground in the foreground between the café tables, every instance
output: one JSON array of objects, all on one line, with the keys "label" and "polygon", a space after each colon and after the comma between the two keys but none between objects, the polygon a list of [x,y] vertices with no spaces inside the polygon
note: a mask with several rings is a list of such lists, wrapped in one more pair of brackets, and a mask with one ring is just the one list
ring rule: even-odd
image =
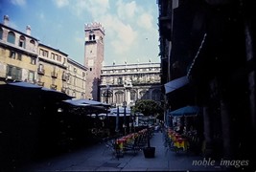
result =
[{"label": "shaded grey paved ground in the foreground between the caf\u00e9 tables", "polygon": [[[221,171],[220,165],[193,165],[193,161],[203,158],[189,153],[175,153],[164,146],[163,134],[154,133],[151,146],[155,147],[155,157],[146,159],[143,151],[135,156],[126,153],[117,159],[105,143],[99,143],[75,152],[49,160],[35,162],[23,171]],[[105,150],[105,151],[104,151]],[[217,163],[216,163],[217,164]]]}]

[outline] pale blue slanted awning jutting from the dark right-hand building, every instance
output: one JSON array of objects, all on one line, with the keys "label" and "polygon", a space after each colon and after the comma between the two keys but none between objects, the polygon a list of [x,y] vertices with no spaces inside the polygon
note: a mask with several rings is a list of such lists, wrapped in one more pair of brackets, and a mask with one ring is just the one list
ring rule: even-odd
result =
[{"label": "pale blue slanted awning jutting from the dark right-hand building", "polygon": [[165,84],[165,94],[169,94],[178,88],[181,88],[189,83],[188,77],[185,75],[183,77],[176,78]]}]

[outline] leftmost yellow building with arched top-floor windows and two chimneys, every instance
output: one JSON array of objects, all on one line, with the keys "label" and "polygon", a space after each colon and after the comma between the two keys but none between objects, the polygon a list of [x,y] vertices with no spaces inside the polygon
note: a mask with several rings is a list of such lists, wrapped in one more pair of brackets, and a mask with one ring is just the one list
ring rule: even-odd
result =
[{"label": "leftmost yellow building with arched top-floor windows and two chimneys", "polygon": [[9,27],[9,16],[0,24],[0,78],[2,81],[36,81],[38,40]]}]

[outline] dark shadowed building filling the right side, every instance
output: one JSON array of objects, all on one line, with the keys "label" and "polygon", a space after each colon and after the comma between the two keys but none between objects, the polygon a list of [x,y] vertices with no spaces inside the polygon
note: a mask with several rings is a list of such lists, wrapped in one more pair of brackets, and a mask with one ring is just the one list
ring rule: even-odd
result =
[{"label": "dark shadowed building filling the right side", "polygon": [[166,92],[166,107],[174,111],[200,106],[202,153],[249,160],[242,169],[255,169],[255,4],[245,0],[157,3],[162,84],[175,86],[176,79],[188,78],[188,83]]}]

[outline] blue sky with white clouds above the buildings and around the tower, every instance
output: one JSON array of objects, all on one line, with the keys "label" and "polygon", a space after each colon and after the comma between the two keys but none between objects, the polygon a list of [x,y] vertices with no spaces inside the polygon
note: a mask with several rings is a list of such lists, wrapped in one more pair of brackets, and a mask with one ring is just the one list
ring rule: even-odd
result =
[{"label": "blue sky with white clouds above the buildings and around the tower", "polygon": [[160,61],[156,0],[0,0],[0,14],[81,64],[84,24],[92,22],[105,28],[105,65]]}]

